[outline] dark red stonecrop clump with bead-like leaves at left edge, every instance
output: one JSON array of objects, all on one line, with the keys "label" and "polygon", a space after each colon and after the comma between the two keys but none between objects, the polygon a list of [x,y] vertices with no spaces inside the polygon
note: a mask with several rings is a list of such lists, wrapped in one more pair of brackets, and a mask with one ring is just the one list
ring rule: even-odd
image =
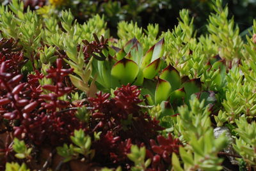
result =
[{"label": "dark red stonecrop clump with bead-like leaves at left edge", "polygon": [[[52,93],[42,94],[38,80],[44,75],[36,71],[35,75],[28,75],[28,82],[24,82],[22,75],[8,73],[6,63],[4,61],[0,65],[0,114],[10,121],[14,135],[29,138],[37,145],[44,142],[50,143],[48,145],[68,142],[74,130],[82,126],[74,110],[61,112],[61,108],[70,107],[70,103],[58,98],[70,93],[71,88],[66,87],[63,80],[73,70],[62,69],[62,61],[58,59],[57,68],[50,68],[46,75],[52,78],[54,85],[43,86]],[[13,124],[13,121],[19,122]]]}]

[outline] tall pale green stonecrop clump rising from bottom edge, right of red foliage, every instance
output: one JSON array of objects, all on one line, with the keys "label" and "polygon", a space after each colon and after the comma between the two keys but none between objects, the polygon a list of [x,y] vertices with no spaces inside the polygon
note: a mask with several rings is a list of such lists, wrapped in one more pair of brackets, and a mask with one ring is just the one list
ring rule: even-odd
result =
[{"label": "tall pale green stonecrop clump rising from bottom edge, right of red foliage", "polygon": [[176,154],[172,154],[174,170],[221,170],[218,152],[225,148],[228,140],[225,135],[214,137],[209,108],[204,107],[204,101],[196,98],[189,101],[188,106],[179,107],[179,116],[175,121],[174,133],[184,139],[188,145],[180,147],[180,157],[184,162],[183,167]]}]

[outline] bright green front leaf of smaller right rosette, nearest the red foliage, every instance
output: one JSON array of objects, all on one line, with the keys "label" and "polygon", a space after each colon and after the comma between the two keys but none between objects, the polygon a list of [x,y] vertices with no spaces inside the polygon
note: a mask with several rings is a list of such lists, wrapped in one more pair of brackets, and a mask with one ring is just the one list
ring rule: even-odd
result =
[{"label": "bright green front leaf of smaller right rosette, nearest the red foliage", "polygon": [[155,93],[155,103],[159,104],[162,101],[167,100],[170,96],[171,91],[171,84],[166,80],[158,78]]}]

